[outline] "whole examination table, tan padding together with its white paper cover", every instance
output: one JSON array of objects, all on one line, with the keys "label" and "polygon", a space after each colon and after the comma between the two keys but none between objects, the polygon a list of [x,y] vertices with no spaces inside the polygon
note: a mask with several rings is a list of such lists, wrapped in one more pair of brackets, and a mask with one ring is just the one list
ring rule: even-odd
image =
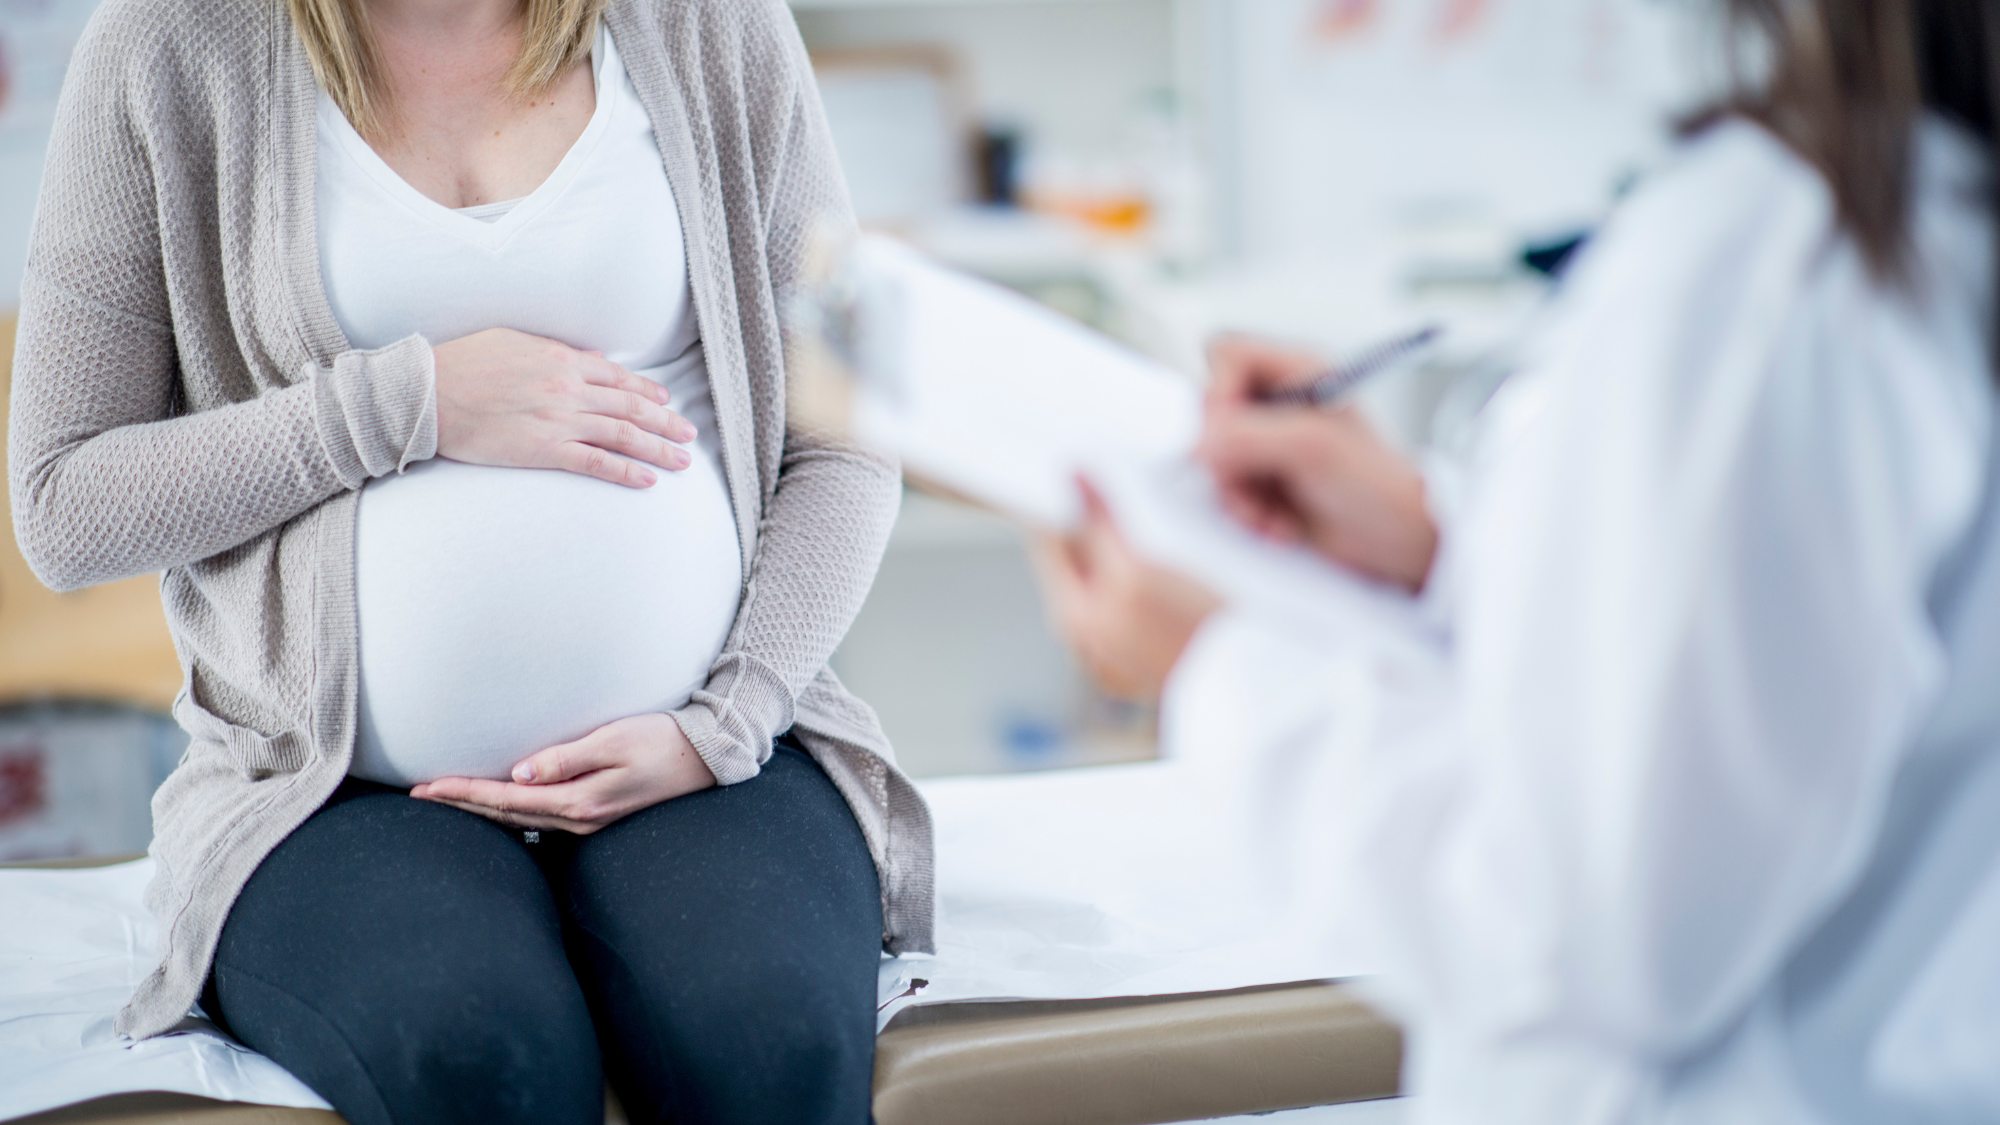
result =
[{"label": "whole examination table, tan padding together with its white paper cover", "polygon": [[[880,1125],[1140,1125],[1398,1093],[1398,1029],[1334,983],[1368,967],[1268,923],[1258,857],[1200,831],[1208,793],[1178,767],[920,787],[936,817],[938,951],[882,961]],[[150,957],[150,863],[22,867],[42,871],[0,871],[0,1121],[340,1121],[298,1109],[318,1099],[282,1071],[290,1091],[210,1081],[244,1057],[274,1071],[212,1035],[134,1049],[110,1033]],[[86,975],[94,991],[78,995]],[[146,1069],[148,1055],[158,1067],[198,1049],[176,1081]],[[136,1093],[162,1089],[246,1101]],[[248,1103],[260,1099],[294,1107]]]}]

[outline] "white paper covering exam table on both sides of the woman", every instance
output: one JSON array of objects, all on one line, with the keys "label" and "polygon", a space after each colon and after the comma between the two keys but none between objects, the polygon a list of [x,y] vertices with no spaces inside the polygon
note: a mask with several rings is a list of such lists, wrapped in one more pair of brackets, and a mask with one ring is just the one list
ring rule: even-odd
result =
[{"label": "white paper covering exam table on both sides of the woman", "polygon": [[[1186,763],[922,783],[938,831],[938,953],[882,963],[880,1023],[910,1003],[1192,993],[1358,973],[1272,925],[1260,857]],[[152,971],[152,861],[0,871],[0,1119],[160,1089],[322,1107],[212,1029],[112,1031]],[[910,993],[910,981],[928,985]]]}]

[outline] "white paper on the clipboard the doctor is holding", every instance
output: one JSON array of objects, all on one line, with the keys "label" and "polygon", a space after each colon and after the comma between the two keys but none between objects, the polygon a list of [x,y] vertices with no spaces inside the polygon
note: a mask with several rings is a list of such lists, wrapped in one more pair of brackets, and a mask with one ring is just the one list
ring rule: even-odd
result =
[{"label": "white paper on the clipboard the doctor is holding", "polygon": [[1200,390],[996,284],[864,236],[842,264],[852,436],[1030,524],[1080,514],[1090,476],[1146,556],[1308,631],[1408,635],[1410,599],[1230,520],[1192,460]]}]

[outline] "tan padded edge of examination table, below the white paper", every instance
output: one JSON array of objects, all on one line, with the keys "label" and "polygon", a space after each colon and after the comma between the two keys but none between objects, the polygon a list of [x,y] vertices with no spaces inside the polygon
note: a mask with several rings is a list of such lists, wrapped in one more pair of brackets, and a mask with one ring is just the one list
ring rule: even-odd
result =
[{"label": "tan padded edge of examination table, below the white paper", "polygon": [[[24,867],[90,867],[62,861]],[[922,963],[918,963],[920,967]],[[1402,1037],[1334,981],[904,1007],[876,1047],[880,1125],[1140,1125],[1390,1097]],[[608,1121],[624,1121],[616,1105]],[[22,1125],[336,1125],[326,1109],[124,1093]]]}]

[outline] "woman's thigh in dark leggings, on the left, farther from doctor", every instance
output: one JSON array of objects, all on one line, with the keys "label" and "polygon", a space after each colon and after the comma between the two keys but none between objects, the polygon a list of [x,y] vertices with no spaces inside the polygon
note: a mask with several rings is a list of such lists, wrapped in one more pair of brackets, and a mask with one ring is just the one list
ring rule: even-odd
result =
[{"label": "woman's thigh in dark leggings, on the left, farther from doctor", "polygon": [[348,781],[236,899],[208,1001],[354,1125],[598,1123],[554,895],[506,829]]}]

